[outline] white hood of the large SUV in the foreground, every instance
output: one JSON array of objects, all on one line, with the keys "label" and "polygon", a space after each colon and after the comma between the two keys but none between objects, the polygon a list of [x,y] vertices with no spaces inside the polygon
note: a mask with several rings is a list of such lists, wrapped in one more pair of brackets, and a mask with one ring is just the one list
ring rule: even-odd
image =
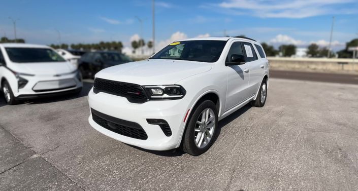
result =
[{"label": "white hood of the large SUV in the foreground", "polygon": [[101,70],[96,78],[139,85],[171,85],[211,69],[211,64],[184,60],[149,59]]}]

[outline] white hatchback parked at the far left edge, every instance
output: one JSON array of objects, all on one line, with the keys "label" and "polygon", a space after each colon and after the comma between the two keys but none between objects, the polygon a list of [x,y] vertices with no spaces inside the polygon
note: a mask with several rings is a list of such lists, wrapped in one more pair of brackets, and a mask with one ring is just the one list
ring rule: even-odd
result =
[{"label": "white hatchback parked at the far left edge", "polygon": [[0,44],[0,80],[8,104],[82,89],[77,68],[43,45]]}]

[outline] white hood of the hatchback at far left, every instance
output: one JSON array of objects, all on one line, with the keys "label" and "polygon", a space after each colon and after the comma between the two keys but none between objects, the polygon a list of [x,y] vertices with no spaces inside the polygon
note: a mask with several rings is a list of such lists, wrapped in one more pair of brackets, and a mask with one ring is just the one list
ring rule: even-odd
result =
[{"label": "white hood of the hatchback at far left", "polygon": [[76,68],[69,62],[38,62],[38,63],[17,63],[10,68],[16,72],[35,75],[55,75],[69,73]]}]

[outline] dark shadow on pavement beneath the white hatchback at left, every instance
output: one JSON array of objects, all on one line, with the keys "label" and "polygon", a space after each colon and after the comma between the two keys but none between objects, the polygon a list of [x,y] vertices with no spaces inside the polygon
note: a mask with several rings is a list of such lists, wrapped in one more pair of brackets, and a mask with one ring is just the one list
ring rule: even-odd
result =
[{"label": "dark shadow on pavement beneath the white hatchback at left", "polygon": [[56,102],[56,101],[65,101],[75,98],[80,98],[88,95],[88,92],[93,87],[93,82],[83,82],[82,91],[79,94],[69,94],[65,96],[54,96],[54,97],[48,97],[48,98],[38,98],[38,99],[32,99],[28,101],[23,101],[22,103],[27,104],[41,104],[41,103],[50,103],[50,102]]}]

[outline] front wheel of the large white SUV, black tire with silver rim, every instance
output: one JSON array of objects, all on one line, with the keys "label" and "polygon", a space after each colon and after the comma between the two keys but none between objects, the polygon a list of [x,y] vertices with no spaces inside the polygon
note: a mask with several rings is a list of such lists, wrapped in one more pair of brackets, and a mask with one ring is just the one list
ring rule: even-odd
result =
[{"label": "front wheel of the large white SUV, black tire with silver rim", "polygon": [[198,156],[207,151],[218,135],[218,112],[210,100],[203,101],[193,111],[183,137],[182,150]]}]

